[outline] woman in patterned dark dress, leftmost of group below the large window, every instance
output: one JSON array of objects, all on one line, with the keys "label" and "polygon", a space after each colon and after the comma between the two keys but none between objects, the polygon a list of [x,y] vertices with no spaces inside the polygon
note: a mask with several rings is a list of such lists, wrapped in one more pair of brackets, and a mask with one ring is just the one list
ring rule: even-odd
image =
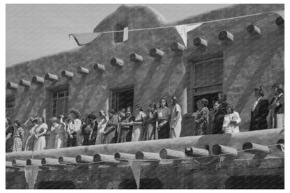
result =
[{"label": "woman in patterned dark dress, leftmost of group below the large window", "polygon": [[204,135],[208,127],[208,100],[205,98],[197,101],[197,116],[195,116],[195,131],[193,135]]}]

